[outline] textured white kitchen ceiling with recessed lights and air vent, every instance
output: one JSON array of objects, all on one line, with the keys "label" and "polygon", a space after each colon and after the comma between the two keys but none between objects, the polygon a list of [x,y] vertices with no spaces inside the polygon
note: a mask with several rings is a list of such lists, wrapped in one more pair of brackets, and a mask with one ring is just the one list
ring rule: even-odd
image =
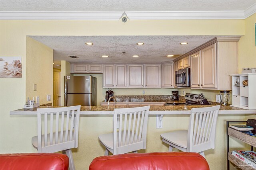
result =
[{"label": "textured white kitchen ceiling with recessed lights and air vent", "polygon": [[[30,36],[54,50],[54,63],[157,63],[172,61],[216,36]],[[92,42],[94,45],[85,45]],[[138,42],[144,45],[136,45]],[[188,42],[187,45],[180,45]],[[125,52],[123,54],[122,52]],[[68,55],[76,55],[72,59]],[[101,57],[108,55],[109,57]],[[132,57],[139,55],[139,57]]]}]

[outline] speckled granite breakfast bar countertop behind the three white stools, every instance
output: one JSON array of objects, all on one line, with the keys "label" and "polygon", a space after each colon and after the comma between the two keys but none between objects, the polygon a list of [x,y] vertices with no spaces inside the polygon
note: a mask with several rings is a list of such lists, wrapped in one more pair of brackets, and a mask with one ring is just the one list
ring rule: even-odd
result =
[{"label": "speckled granite breakfast bar countertop behind the three white stools", "polygon": [[[138,105],[140,106],[140,105]],[[210,107],[213,105],[200,105],[200,106],[150,106],[150,114],[190,114],[192,108]],[[10,111],[10,115],[36,115],[38,108],[52,108],[59,106],[40,106],[31,109],[18,109]],[[113,114],[115,108],[130,108],[134,106],[81,106],[81,115],[94,115],[94,114]],[[232,106],[221,106],[220,114],[256,114],[256,110],[246,110]]]}]

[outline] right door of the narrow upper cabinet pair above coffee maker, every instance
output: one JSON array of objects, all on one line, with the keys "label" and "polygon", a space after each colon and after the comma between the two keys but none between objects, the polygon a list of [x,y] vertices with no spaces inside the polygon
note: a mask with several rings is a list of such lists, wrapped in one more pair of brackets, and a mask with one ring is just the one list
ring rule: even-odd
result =
[{"label": "right door of the narrow upper cabinet pair above coffee maker", "polygon": [[126,87],[126,65],[116,64],[116,87]]}]

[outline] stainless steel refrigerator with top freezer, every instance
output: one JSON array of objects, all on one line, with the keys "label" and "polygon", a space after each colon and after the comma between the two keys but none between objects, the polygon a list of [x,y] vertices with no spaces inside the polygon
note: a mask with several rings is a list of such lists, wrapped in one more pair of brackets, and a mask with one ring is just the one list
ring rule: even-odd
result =
[{"label": "stainless steel refrigerator with top freezer", "polygon": [[96,106],[96,78],[65,76],[64,106]]}]

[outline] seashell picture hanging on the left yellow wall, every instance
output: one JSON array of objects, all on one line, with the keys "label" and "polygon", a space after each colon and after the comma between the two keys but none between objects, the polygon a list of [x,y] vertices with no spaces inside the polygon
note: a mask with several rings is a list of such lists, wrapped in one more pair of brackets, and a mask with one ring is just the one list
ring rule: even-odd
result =
[{"label": "seashell picture hanging on the left yellow wall", "polygon": [[0,57],[0,78],[21,78],[21,57]]}]

